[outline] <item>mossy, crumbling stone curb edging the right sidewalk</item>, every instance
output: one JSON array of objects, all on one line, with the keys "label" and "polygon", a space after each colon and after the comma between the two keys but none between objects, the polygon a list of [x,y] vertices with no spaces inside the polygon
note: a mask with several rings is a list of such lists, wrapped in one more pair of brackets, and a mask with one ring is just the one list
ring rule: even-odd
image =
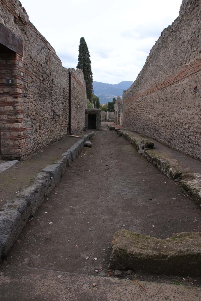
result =
[{"label": "mossy, crumbling stone curb edging the right sidewalk", "polygon": [[[109,127],[109,125],[108,125]],[[115,129],[119,136],[128,140],[147,161],[156,166],[162,174],[169,179],[179,178],[178,184],[184,193],[192,199],[197,206],[201,207],[201,174],[186,172],[176,164],[168,162],[163,156],[157,154],[152,149],[154,143],[147,139],[137,138],[129,135],[126,131]]]}]

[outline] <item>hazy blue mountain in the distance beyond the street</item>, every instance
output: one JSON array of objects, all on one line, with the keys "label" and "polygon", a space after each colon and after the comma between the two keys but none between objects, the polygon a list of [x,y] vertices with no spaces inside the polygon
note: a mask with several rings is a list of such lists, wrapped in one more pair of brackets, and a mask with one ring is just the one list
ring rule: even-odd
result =
[{"label": "hazy blue mountain in the distance beyond the street", "polygon": [[105,84],[103,82],[93,82],[94,94],[99,97],[101,104],[106,104],[112,101],[112,98],[117,98],[117,95],[122,96],[124,90],[127,90],[133,82],[120,82],[119,84]]}]

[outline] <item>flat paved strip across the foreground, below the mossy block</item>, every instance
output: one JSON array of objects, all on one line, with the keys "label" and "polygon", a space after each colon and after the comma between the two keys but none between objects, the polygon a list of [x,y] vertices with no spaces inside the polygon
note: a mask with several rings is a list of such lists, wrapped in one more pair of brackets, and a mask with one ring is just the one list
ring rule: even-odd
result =
[{"label": "flat paved strip across the foreground, below the mossy block", "polygon": [[[201,288],[21,268],[0,274],[1,301],[198,301]],[[96,286],[93,287],[93,284]]]}]

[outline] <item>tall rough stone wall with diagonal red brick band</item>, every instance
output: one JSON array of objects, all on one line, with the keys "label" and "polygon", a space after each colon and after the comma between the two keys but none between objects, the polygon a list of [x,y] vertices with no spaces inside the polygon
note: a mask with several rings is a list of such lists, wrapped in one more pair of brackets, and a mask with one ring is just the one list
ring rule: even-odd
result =
[{"label": "tall rough stone wall with diagonal red brick band", "polygon": [[201,3],[182,2],[133,85],[123,126],[201,160]]}]

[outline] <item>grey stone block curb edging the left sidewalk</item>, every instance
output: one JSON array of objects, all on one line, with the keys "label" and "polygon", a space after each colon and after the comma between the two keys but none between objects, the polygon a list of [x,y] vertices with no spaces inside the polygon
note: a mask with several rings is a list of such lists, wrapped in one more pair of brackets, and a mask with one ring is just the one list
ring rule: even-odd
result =
[{"label": "grey stone block curb edging the left sidewalk", "polygon": [[93,137],[91,132],[77,141],[62,154],[61,160],[46,166],[33,179],[28,188],[23,189],[9,203],[0,209],[0,262],[7,256],[17,237],[26,225],[30,216],[34,216],[42,205],[44,197],[58,184],[66,167],[71,165],[84,147],[85,140]]}]

